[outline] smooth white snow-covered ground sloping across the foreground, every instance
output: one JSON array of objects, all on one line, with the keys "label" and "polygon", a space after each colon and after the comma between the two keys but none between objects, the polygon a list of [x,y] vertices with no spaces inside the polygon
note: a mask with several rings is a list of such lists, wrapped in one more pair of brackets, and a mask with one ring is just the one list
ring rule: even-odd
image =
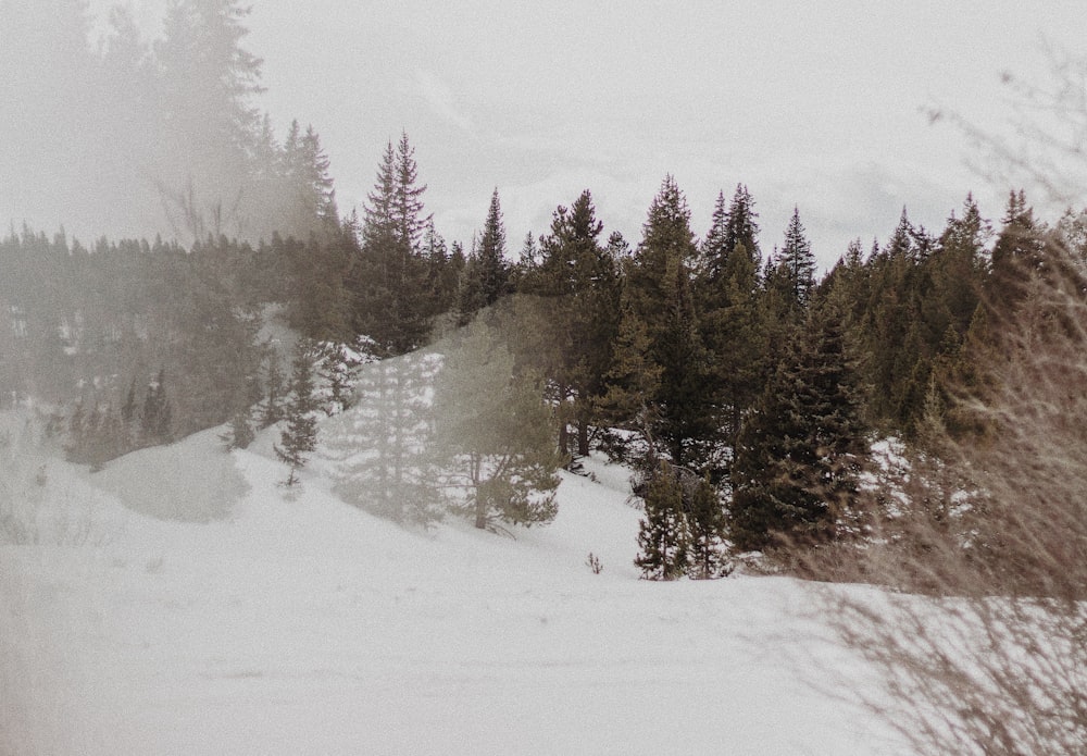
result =
[{"label": "smooth white snow-covered ground sloping across the foreground", "polygon": [[638,580],[619,468],[514,540],[288,495],[268,448],[46,463],[46,543],[0,545],[0,754],[902,753],[814,586]]}]

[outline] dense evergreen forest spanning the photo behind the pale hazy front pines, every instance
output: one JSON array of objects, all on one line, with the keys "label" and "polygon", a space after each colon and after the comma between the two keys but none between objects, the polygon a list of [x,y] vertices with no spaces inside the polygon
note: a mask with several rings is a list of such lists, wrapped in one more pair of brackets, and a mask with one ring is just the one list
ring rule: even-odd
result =
[{"label": "dense evergreen forest spanning the photo behind the pale hazy front pines", "polygon": [[[586,189],[516,249],[496,188],[480,231],[447,243],[407,134],[389,140],[361,213],[341,215],[315,129],[296,121],[279,144],[249,103],[260,61],[241,46],[245,15],[173,3],[152,46],[117,12],[100,50],[80,53],[101,74],[85,85],[102,91],[102,117],[135,114],[135,131],[162,137],[126,142],[127,164],[160,160],[145,148],[201,150],[171,149],[179,172],[158,181],[190,244],[85,246],[27,227],[0,241],[0,395],[54,408],[74,461],[222,423],[243,445],[286,417],[291,355],[271,323],[298,337],[332,413],[363,394],[349,396],[363,362],[482,319],[550,408],[548,454],[576,470],[604,449],[639,471],[646,577],[712,577],[726,551],[855,535],[874,441],[922,443],[937,424],[984,433],[957,396],[984,383],[1024,276],[1087,255],[1084,214],[1049,227],[1013,190],[997,223],[969,195],[940,230],[903,209],[885,239],[858,239],[821,274],[799,208],[766,233],[739,184],[698,234],[671,176],[639,239],[607,233]],[[138,77],[164,100],[118,101],[143,91],[125,85]]]}]

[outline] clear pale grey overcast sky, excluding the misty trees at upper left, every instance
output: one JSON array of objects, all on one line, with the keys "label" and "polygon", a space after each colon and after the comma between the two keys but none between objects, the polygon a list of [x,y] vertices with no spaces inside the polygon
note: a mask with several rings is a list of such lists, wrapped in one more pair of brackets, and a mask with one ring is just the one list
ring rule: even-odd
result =
[{"label": "clear pale grey overcast sky, excluding the misty trees at upper left", "polygon": [[[95,0],[92,5],[113,4]],[[153,28],[164,0],[130,0]],[[252,0],[260,107],[312,123],[340,209],[364,201],[405,131],[424,199],[471,239],[497,186],[511,252],[588,188],[636,243],[666,173],[703,235],[720,190],[748,186],[764,251],[794,206],[822,264],[894,230],[939,230],[967,191],[997,220],[1008,187],[966,168],[965,139],[924,110],[1007,120],[1001,74],[1045,78],[1040,45],[1076,51],[1083,0],[585,2]]]}]

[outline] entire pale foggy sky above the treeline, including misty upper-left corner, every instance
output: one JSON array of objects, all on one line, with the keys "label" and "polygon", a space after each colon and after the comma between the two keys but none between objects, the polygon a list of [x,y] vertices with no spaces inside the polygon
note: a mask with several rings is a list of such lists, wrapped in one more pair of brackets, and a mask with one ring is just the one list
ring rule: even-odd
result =
[{"label": "entire pale foggy sky above the treeline, including misty upper-left corner", "polygon": [[798,206],[826,267],[852,238],[885,239],[903,206],[938,228],[973,190],[999,218],[1008,186],[972,172],[967,140],[929,124],[925,108],[996,127],[1010,112],[1001,73],[1045,77],[1041,40],[1074,50],[1087,30],[1078,2],[689,3],[662,14],[654,3],[321,0],[303,11],[262,0],[234,20],[250,34],[232,39],[235,25],[204,40],[264,59],[260,79],[226,63],[240,89],[224,89],[209,86],[224,80],[222,58],[196,64],[195,48],[148,41],[177,32],[163,21],[172,3],[126,0],[130,21],[111,26],[113,4],[0,0],[3,225],[63,224],[84,241],[283,231],[291,224],[272,220],[287,212],[273,181],[283,176],[261,169],[272,142],[253,137],[282,148],[297,117],[320,133],[345,213],[405,129],[450,239],[471,238],[498,186],[512,239],[589,188],[609,230],[635,240],[672,173],[696,233],[717,191],[742,182],[763,245],[780,243]]}]

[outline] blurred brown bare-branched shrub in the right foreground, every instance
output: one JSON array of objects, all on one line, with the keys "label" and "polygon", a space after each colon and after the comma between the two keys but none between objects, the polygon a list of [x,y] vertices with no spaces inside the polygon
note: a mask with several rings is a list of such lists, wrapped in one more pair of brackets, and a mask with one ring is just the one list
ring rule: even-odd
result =
[{"label": "blurred brown bare-branched shrub in the right foreground", "polygon": [[808,555],[839,636],[884,672],[867,696],[925,754],[1083,754],[1087,744],[1087,276],[1050,248],[1023,272],[982,394],[929,420],[870,491],[863,541]]}]

